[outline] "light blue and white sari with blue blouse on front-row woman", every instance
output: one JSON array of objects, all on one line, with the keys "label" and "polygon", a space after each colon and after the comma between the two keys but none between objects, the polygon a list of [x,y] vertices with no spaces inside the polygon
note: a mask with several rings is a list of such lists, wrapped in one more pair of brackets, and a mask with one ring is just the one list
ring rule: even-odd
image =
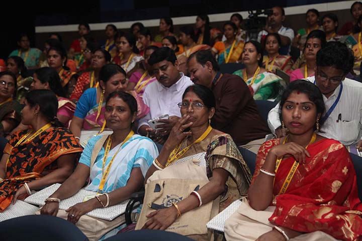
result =
[{"label": "light blue and white sari with blue blouse on front-row woman", "polygon": [[[79,163],[88,167],[91,166],[93,149],[101,137],[102,136],[99,135],[89,139],[80,157]],[[112,160],[120,145],[121,144],[110,150],[104,165],[105,168]],[[99,191],[99,185],[103,177],[102,167],[104,155],[105,148],[102,147],[90,172],[91,181],[89,182],[89,185],[85,187],[86,190],[94,192]],[[116,190],[117,188],[126,186],[133,168],[140,168],[143,177],[145,177],[148,168],[152,165],[153,160],[157,156],[158,150],[152,140],[140,135],[133,135],[125,144],[123,144],[120,152],[115,157],[102,192],[108,193]]]}]

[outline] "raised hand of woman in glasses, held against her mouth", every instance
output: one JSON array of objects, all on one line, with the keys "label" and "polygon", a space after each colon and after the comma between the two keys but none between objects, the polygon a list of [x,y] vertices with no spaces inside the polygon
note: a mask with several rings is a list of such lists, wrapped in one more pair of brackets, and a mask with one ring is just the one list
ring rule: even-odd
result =
[{"label": "raised hand of woman in glasses, held against her mouth", "polygon": [[185,124],[187,120],[190,118],[189,115],[184,115],[181,117],[176,124],[173,126],[166,143],[164,144],[170,150],[173,150],[185,137],[190,136],[191,132],[184,132],[185,129],[191,127],[193,125],[192,122],[189,124]]}]

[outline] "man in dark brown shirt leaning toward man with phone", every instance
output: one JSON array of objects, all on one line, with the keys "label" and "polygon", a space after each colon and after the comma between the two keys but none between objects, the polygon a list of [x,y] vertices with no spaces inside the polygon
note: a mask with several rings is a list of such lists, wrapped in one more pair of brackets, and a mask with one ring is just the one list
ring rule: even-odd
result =
[{"label": "man in dark brown shirt leaning toward man with phone", "polygon": [[214,92],[216,112],[212,127],[230,134],[237,145],[256,153],[270,130],[244,80],[237,75],[221,74],[209,50],[190,55],[187,63],[191,80]]}]

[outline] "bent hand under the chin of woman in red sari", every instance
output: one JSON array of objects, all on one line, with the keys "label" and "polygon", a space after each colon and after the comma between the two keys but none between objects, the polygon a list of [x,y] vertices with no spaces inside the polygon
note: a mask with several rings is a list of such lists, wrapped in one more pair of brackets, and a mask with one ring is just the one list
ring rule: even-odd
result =
[{"label": "bent hand under the chin of woman in red sari", "polygon": [[306,156],[310,157],[309,152],[304,147],[294,142],[275,146],[270,149],[268,155],[275,155],[277,158],[292,155],[297,162],[302,164],[305,164]]}]

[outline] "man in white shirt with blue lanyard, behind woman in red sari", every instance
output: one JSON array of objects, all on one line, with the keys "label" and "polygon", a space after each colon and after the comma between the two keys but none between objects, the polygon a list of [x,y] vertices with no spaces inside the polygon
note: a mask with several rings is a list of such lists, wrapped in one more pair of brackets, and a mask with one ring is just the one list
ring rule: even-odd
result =
[{"label": "man in white shirt with blue lanyard, behind woman in red sari", "polygon": [[[362,151],[362,84],[345,78],[352,66],[353,54],[346,45],[329,42],[317,53],[315,77],[306,80],[317,85],[326,105],[326,119],[318,134],[356,153],[354,145]],[[277,137],[286,135],[287,130],[281,128],[279,104],[270,110],[268,126]]]}]

